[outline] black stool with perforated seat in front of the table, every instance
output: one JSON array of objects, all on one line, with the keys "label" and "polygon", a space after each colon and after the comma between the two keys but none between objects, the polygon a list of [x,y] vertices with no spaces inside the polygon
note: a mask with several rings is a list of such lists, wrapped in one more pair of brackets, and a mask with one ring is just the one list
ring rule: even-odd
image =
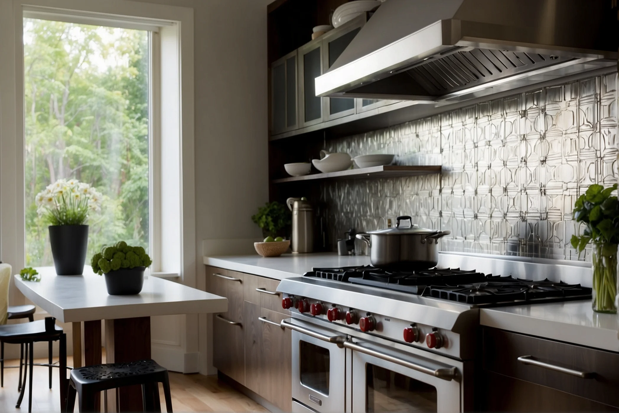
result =
[{"label": "black stool with perforated seat in front of the table", "polygon": [[[66,412],[75,407],[76,393],[79,397],[79,411],[95,411],[95,395],[104,390],[124,386],[142,385],[142,403],[145,412],[160,412],[158,383],[163,383],[165,407],[172,412],[168,370],[154,360],[140,360],[130,363],[89,365],[71,370]],[[118,411],[118,406],[117,409]]]}]

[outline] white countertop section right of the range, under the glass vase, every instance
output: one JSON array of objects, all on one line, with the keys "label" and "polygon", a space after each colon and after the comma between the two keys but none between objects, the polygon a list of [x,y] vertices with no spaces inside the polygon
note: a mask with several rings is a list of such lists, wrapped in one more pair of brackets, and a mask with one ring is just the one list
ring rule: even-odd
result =
[{"label": "white countertop section right of the range, under the glass vase", "polygon": [[619,352],[619,316],[593,312],[591,300],[482,309],[480,323],[516,333]]}]

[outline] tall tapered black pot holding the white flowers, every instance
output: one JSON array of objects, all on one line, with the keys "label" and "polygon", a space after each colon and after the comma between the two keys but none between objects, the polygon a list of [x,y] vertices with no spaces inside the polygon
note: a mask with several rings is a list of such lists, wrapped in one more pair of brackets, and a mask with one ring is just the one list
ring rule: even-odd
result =
[{"label": "tall tapered black pot holding the white flowers", "polygon": [[50,225],[51,255],[58,275],[82,275],[88,249],[87,225]]}]

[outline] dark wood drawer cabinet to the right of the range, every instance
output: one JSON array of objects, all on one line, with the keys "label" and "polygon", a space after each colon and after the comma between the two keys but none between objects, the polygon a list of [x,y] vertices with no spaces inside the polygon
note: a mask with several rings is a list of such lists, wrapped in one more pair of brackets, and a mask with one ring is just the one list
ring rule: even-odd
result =
[{"label": "dark wood drawer cabinet to the right of the range", "polygon": [[483,372],[487,411],[619,411],[619,353],[484,328]]}]

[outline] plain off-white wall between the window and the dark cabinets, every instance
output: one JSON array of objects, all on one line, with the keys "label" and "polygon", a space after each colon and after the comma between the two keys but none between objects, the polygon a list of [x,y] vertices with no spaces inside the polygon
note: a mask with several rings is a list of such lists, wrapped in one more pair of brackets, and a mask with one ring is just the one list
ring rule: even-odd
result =
[{"label": "plain off-white wall between the window and the dark cabinets", "polygon": [[[250,217],[268,200],[266,6],[272,0],[140,1],[194,9],[196,279],[184,283],[201,287],[203,240],[261,236]],[[174,320],[181,328],[172,328]],[[214,372],[206,320],[168,317],[157,327],[154,320],[153,356],[171,360],[167,367],[174,370],[196,371],[199,360],[200,372]]]}]

